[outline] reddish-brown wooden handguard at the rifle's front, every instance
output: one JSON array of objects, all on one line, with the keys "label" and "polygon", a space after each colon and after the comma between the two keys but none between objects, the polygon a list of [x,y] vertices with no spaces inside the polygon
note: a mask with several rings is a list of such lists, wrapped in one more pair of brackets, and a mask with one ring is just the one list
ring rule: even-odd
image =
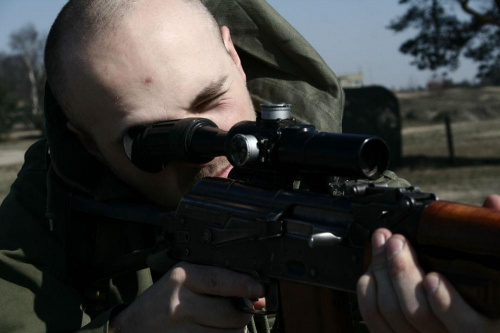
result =
[{"label": "reddish-brown wooden handguard at the rifle's front", "polygon": [[[419,222],[417,244],[434,249],[419,253],[427,271],[442,273],[478,311],[500,318],[500,212],[432,202]],[[453,255],[440,256],[439,249]]]}]

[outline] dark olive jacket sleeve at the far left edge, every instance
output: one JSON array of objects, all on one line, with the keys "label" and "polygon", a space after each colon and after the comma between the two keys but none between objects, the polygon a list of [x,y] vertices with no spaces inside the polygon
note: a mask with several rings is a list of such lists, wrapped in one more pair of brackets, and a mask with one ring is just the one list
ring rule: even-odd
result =
[{"label": "dark olive jacket sleeve at the far left edge", "polygon": [[46,174],[40,141],[0,207],[0,332],[107,332],[116,309],[91,321],[71,286],[64,235],[45,217]]}]

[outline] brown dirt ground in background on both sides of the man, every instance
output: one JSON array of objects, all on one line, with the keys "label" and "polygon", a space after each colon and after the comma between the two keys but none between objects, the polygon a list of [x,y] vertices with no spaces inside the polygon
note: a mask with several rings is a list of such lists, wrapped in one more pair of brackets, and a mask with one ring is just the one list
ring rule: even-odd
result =
[{"label": "brown dirt ground in background on both sides of the man", "polygon": [[[500,87],[398,93],[403,116],[403,167],[396,173],[440,199],[481,204],[500,193]],[[452,119],[449,160],[443,114]],[[0,201],[22,165],[36,132],[0,143]]]}]

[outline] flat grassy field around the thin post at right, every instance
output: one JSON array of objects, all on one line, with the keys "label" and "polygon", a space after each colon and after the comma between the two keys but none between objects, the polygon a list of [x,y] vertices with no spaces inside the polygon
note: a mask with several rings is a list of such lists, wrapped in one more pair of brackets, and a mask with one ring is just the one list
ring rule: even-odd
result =
[{"label": "flat grassy field around the thin post at right", "polygon": [[450,165],[444,124],[403,130],[404,166],[396,170],[440,199],[482,204],[500,193],[500,119],[452,124],[455,147]]}]

